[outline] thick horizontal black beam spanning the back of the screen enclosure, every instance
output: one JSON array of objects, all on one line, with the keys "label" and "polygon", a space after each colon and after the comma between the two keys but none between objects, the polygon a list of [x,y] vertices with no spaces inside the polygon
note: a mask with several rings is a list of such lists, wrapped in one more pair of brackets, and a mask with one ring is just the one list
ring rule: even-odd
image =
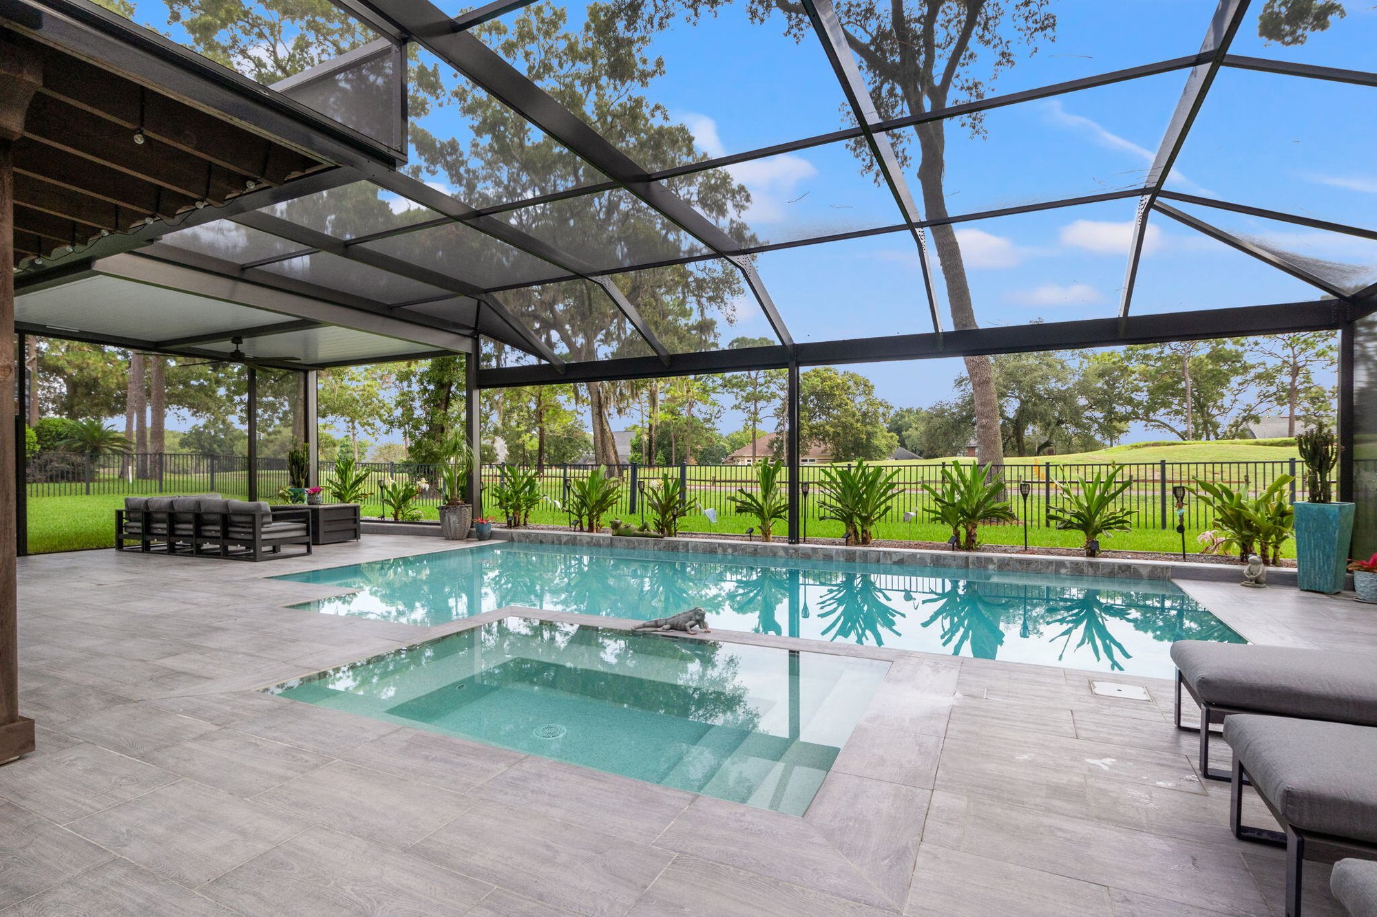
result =
[{"label": "thick horizontal black beam spanning the back of the screen enclosure", "polygon": [[[1337,299],[1321,299],[1272,306],[1202,308],[1118,318],[1089,318],[1070,322],[1042,322],[1000,328],[949,330],[942,335],[892,335],[854,340],[804,341],[796,346],[801,366],[939,359],[974,354],[1019,354],[1047,350],[1084,350],[1157,344],[1173,340],[1205,340],[1256,335],[1337,329],[1348,306]],[[675,354],[668,368],[649,357],[565,363],[559,376],[544,366],[504,366],[479,370],[481,388],[509,388],[545,383],[655,379],[708,373],[786,369],[790,351],[784,347],[716,350]]]}]

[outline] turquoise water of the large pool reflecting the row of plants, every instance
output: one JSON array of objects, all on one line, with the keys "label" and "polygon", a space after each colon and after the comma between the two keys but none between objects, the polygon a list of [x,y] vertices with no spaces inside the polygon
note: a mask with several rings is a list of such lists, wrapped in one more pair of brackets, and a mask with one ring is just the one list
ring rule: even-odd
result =
[{"label": "turquoise water of the large pool reflecting the row of plants", "polygon": [[300,606],[435,625],[505,606],[1170,677],[1173,640],[1243,639],[1166,581],[728,554],[497,542],[297,580],[357,589]]}]

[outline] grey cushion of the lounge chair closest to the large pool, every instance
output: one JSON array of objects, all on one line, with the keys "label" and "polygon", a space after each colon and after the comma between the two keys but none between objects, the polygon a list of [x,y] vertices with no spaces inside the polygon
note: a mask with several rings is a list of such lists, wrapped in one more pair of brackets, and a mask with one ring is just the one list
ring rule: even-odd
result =
[{"label": "grey cushion of the lounge chair closest to the large pool", "polygon": [[1377,655],[1369,653],[1177,640],[1172,661],[1206,704],[1377,726]]}]

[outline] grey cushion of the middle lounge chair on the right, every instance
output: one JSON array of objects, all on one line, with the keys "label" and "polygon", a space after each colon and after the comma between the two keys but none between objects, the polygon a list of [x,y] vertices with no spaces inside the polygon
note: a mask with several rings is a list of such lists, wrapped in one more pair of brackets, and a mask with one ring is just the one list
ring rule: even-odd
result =
[{"label": "grey cushion of the middle lounge chair on the right", "polygon": [[1224,741],[1286,822],[1377,843],[1377,728],[1235,713]]}]

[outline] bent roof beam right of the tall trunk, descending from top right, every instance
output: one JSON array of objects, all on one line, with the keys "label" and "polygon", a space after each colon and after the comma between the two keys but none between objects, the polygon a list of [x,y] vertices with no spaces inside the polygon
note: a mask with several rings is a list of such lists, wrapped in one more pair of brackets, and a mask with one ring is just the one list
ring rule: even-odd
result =
[{"label": "bent roof beam right of the tall trunk, descending from top right", "polygon": [[1137,201],[1137,215],[1133,218],[1133,235],[1129,240],[1128,267],[1124,273],[1124,292],[1120,299],[1120,318],[1128,317],[1128,310],[1133,302],[1133,285],[1137,281],[1137,264],[1143,257],[1143,240],[1147,237],[1147,219],[1153,212],[1153,204],[1170,175],[1176,157],[1180,156],[1186,138],[1195,123],[1195,116],[1205,103],[1209,87],[1215,83],[1215,74],[1224,63],[1228,45],[1238,33],[1248,12],[1248,0],[1219,0],[1215,17],[1210,19],[1209,32],[1201,43],[1201,55],[1205,58],[1191,67],[1186,80],[1181,98],[1176,102],[1176,110],[1166,125],[1162,142],[1157,147],[1157,156],[1147,172],[1148,191]]}]

